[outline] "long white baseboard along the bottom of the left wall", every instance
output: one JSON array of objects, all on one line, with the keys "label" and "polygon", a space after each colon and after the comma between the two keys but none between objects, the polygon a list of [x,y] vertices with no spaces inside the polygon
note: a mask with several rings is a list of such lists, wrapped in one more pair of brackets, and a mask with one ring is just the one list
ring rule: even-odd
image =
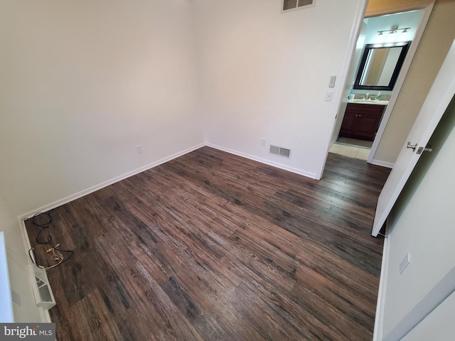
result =
[{"label": "long white baseboard along the bottom of the left wall", "polygon": [[28,219],[30,217],[33,217],[33,215],[35,215],[36,212],[47,212],[48,210],[53,210],[55,207],[59,207],[61,205],[65,205],[68,202],[71,202],[73,200],[79,199],[80,197],[83,197],[83,196],[85,196],[87,194],[93,193],[93,192],[95,192],[97,190],[100,190],[100,189],[105,188],[105,187],[107,187],[109,185],[112,185],[113,183],[118,183],[119,181],[124,180],[126,178],[129,178],[130,176],[133,176],[133,175],[139,174],[141,172],[147,171],[150,168],[154,168],[156,166],[159,166],[162,163],[166,163],[168,161],[171,161],[174,158],[178,158],[179,156],[185,155],[186,153],[190,153],[191,151],[195,151],[196,149],[198,149],[200,147],[203,147],[203,146],[205,146],[205,144],[198,144],[198,145],[193,146],[191,148],[187,148],[187,149],[185,149],[183,151],[175,153],[175,154],[173,154],[171,156],[167,156],[166,158],[161,158],[161,160],[159,160],[159,161],[155,161],[155,162],[149,163],[148,165],[142,166],[140,168],[137,168],[134,171],[129,171],[127,173],[124,173],[122,175],[116,176],[115,178],[112,178],[110,180],[104,181],[102,183],[94,185],[94,186],[92,186],[90,188],[87,188],[85,190],[81,190],[80,192],[77,192],[75,194],[68,195],[68,197],[63,197],[62,199],[55,200],[54,202],[51,202],[48,205],[44,205],[44,206],[38,207],[38,208],[36,208],[34,210],[31,210],[30,212],[27,212],[24,215],[20,215],[18,217],[18,219],[19,220],[26,220],[26,219]]}]

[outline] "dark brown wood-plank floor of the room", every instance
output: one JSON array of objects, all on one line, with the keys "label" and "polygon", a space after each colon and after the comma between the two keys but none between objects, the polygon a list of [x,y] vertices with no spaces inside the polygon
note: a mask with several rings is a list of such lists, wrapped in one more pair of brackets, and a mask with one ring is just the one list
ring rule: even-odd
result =
[{"label": "dark brown wood-plank floor of the room", "polygon": [[40,238],[74,250],[48,271],[57,339],[371,340],[388,173],[329,154],[317,181],[204,147],[51,210]]}]

